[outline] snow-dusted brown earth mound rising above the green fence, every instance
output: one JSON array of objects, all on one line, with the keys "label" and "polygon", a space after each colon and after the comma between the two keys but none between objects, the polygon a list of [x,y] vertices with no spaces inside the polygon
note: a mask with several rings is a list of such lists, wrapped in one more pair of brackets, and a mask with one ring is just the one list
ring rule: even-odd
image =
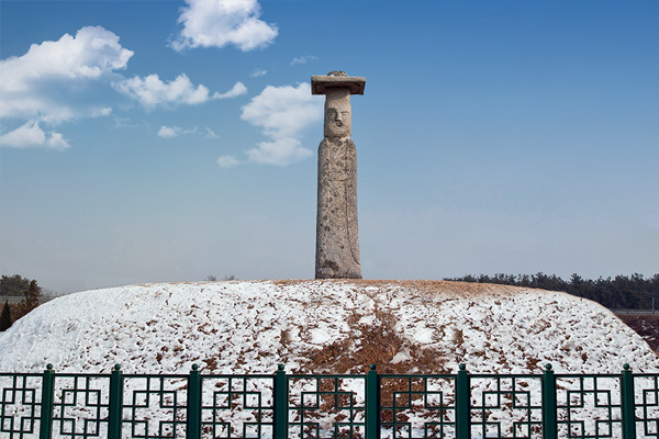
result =
[{"label": "snow-dusted brown earth mound rising above the green fence", "polygon": [[0,335],[0,371],[657,372],[606,308],[563,293],[439,281],[133,285],[48,302]]}]

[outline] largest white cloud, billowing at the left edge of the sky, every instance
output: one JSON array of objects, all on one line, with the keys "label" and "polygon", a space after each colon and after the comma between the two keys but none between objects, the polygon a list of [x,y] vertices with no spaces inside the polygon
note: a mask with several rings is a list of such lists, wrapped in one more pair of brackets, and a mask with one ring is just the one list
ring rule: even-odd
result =
[{"label": "largest white cloud, billowing at the left edge of the sky", "polygon": [[33,44],[26,54],[0,60],[0,117],[57,123],[87,115],[89,110],[71,106],[70,95],[63,91],[126,68],[132,56],[119,36],[101,26]]}]

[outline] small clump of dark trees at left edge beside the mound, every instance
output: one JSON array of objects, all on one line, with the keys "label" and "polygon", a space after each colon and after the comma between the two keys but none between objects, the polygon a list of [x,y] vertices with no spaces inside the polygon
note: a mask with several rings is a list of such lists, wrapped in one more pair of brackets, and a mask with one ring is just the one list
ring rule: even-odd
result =
[{"label": "small clump of dark trees at left edge beside the mound", "polygon": [[42,295],[43,289],[34,279],[30,280],[19,274],[2,275],[0,278],[0,300],[2,296],[22,296],[23,299],[18,304],[4,301],[0,314],[0,331],[9,329],[15,320],[37,307]]}]

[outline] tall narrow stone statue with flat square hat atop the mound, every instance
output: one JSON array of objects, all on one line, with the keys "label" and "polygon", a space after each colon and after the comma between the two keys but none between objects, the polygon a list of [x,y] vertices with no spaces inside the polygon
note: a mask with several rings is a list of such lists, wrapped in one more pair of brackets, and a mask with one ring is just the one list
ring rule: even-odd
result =
[{"label": "tall narrow stone statue with flat square hat atop the mound", "polygon": [[319,146],[316,279],[361,279],[357,221],[357,151],[350,140],[350,94],[364,94],[364,78],[340,71],[311,78],[325,94],[324,138]]}]

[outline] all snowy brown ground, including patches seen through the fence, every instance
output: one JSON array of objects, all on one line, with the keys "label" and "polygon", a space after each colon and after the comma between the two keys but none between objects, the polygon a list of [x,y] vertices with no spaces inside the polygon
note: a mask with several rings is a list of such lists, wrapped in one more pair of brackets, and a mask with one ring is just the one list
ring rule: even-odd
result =
[{"label": "all snowy brown ground, including patches seen through the fence", "polygon": [[[619,373],[624,363],[629,363],[637,373],[659,371],[659,359],[648,345],[593,302],[563,293],[458,282],[228,281],[123,286],[56,299],[0,334],[0,372],[40,372],[46,363],[52,363],[58,373],[108,373],[119,363],[127,374],[183,374],[198,363],[202,374],[208,376],[271,374],[277,364],[284,363],[289,373],[362,373],[371,362],[378,364],[380,373],[455,373],[459,363],[466,363],[473,374],[535,373],[535,376],[499,381],[472,376],[473,438],[499,437],[489,430],[495,426],[502,428],[504,437],[541,437],[537,374],[546,363],[551,363],[558,373]],[[2,380],[2,385],[15,385],[11,384],[10,376]],[[75,380],[59,378],[56,395],[65,395],[62,389],[75,386]],[[126,395],[144,394],[145,389],[153,386],[157,390],[161,385],[169,392],[165,402],[156,398],[139,408],[137,415],[124,409],[125,437],[132,437],[130,428],[134,425],[152,428],[149,431],[165,426],[163,436],[185,436],[185,423],[171,423],[179,419],[181,412],[177,410],[185,408],[187,382],[183,375],[160,376],[150,382],[138,376],[125,380],[125,401],[130,401]],[[389,399],[396,387],[402,385],[399,391],[404,392],[407,385],[404,380],[382,378],[383,406],[392,404]],[[646,381],[637,379],[638,395],[641,389],[655,389],[651,379]],[[221,395],[228,390],[237,394],[259,393],[265,405],[271,407],[272,404],[271,376],[234,379],[233,382],[227,378],[208,376],[203,383],[204,406],[228,405],[213,394],[217,390]],[[86,385],[99,389],[107,404],[107,378],[91,379]],[[420,383],[415,381],[410,385]],[[428,398],[442,396],[446,398],[444,404],[453,404],[453,379],[428,379],[426,385],[434,392]],[[298,436],[292,432],[291,437],[304,436],[302,426],[293,424],[300,423],[302,410],[294,407],[302,404],[303,392],[313,396],[321,387],[324,392],[327,389],[340,392],[343,397],[351,395],[355,406],[364,407],[364,375],[338,381],[291,378],[290,431],[299,429]],[[600,391],[593,392],[593,389]],[[602,401],[606,389],[612,390],[612,399]],[[501,406],[492,408],[489,398],[500,391],[503,391]],[[513,395],[513,392],[517,393]],[[567,419],[570,412],[569,418],[577,423],[577,427],[560,427],[560,437],[572,428],[603,434],[602,428],[607,424],[599,424],[597,419],[619,420],[617,378],[596,382],[562,378],[557,392],[559,419]],[[175,394],[177,399],[170,399]],[[364,412],[357,409],[351,415],[332,408],[333,396],[325,396],[328,397],[323,399],[325,408],[303,410],[308,420],[319,423],[322,435],[331,435],[334,423],[346,416],[355,415],[356,421],[364,421]],[[64,401],[64,396],[57,397]],[[440,414],[424,408],[426,404],[438,402],[410,403],[411,408],[399,413],[396,419],[403,416],[414,437],[423,436],[424,423],[436,420],[437,416],[455,421],[455,412],[450,409]],[[488,407],[479,410],[478,404]],[[560,408],[569,404],[577,408]],[[618,408],[610,413],[597,407],[599,404],[618,405]],[[525,410],[523,407],[528,405],[535,408]],[[174,406],[179,408],[171,408]],[[221,429],[230,428],[234,436],[239,436],[244,426],[254,425],[250,424],[257,419],[254,409],[241,406],[235,399],[231,406],[232,410],[221,416],[214,410],[203,412],[202,418],[209,423],[204,438],[226,437],[226,430],[212,430],[213,421],[230,423],[222,424]],[[11,406],[8,416],[25,416],[27,409]],[[71,409],[69,418],[79,421],[107,416],[89,407]],[[62,416],[58,413],[56,409],[56,417]],[[271,419],[271,410],[265,416]],[[659,414],[652,408],[648,416]],[[579,419],[583,420],[582,425]],[[528,423],[532,424],[525,427]],[[71,428],[79,430],[81,425]],[[621,437],[619,421],[614,427],[607,437]],[[98,428],[103,437],[107,424],[101,423]],[[245,435],[272,437],[271,426],[266,428],[270,429]],[[453,437],[450,430],[445,432]],[[394,431],[387,425],[381,434],[383,438],[392,438],[394,434],[396,438],[406,436],[405,431]],[[62,432],[56,434],[59,438],[57,435]]]}]

